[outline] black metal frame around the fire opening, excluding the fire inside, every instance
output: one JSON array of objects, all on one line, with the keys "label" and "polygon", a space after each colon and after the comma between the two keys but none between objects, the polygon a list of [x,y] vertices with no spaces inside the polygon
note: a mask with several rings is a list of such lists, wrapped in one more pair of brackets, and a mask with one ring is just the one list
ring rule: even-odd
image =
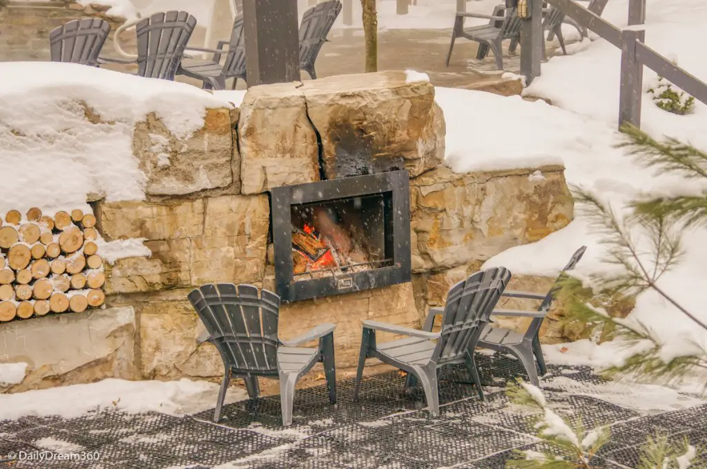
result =
[{"label": "black metal frame around the fire opening, excluding the fire inside", "polygon": [[[292,261],[291,207],[301,203],[335,201],[344,198],[392,193],[392,265],[364,272],[326,278],[294,280]],[[295,186],[274,187],[272,194],[272,237],[275,287],[284,303],[341,295],[349,292],[407,283],[412,277],[410,252],[410,177],[405,170],[344,177]]]}]

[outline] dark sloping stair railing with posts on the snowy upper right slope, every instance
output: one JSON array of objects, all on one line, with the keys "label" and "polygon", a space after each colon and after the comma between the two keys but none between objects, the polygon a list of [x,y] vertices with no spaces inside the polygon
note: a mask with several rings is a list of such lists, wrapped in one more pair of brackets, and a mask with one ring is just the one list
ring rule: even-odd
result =
[{"label": "dark sloping stair railing with posts on the snowy upper right slope", "polygon": [[[537,1],[537,0],[536,0]],[[707,83],[692,76],[690,73],[673,64],[670,60],[655,52],[645,45],[645,30],[635,28],[621,30],[616,26],[595,15],[587,8],[584,8],[573,0],[545,0],[567,16],[573,18],[579,25],[588,30],[592,30],[607,42],[621,49],[621,83],[619,91],[619,126],[624,122],[629,122],[635,126],[641,126],[641,100],[643,98],[643,66],[658,73],[670,83],[678,88],[682,88],[685,93],[694,96],[707,104]],[[645,19],[645,1],[631,0],[629,4],[629,24],[642,24]],[[524,28],[523,34],[540,35],[542,37],[542,27]],[[527,38],[522,44],[532,44],[537,40]],[[542,44],[542,43],[541,43]],[[521,49],[521,54],[523,54]],[[539,71],[540,56],[526,52],[525,61],[521,58],[521,71],[526,79],[539,75],[532,71]],[[538,63],[535,63],[538,62]]]}]

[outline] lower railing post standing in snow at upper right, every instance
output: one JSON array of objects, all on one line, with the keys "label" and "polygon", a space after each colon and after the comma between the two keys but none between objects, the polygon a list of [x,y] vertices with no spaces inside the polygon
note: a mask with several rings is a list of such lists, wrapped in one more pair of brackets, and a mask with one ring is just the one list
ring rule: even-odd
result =
[{"label": "lower railing post standing in snow at upper right", "polygon": [[619,91],[619,127],[629,122],[641,126],[643,64],[636,60],[636,41],[645,40],[645,31],[621,33],[621,88]]}]

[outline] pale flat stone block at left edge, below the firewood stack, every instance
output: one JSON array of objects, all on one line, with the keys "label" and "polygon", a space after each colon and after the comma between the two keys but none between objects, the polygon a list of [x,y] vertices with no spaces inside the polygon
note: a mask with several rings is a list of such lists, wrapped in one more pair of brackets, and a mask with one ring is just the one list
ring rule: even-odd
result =
[{"label": "pale flat stone block at left edge, below the firewood stack", "polygon": [[132,307],[58,314],[0,325],[0,362],[28,364],[18,392],[105,378],[135,379]]}]

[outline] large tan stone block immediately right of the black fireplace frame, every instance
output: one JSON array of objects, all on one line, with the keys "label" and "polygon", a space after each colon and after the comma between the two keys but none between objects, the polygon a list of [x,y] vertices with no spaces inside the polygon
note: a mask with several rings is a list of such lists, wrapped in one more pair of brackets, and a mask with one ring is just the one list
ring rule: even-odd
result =
[{"label": "large tan stone block immediately right of the black fireplace frame", "polygon": [[440,167],[410,186],[415,272],[485,261],[573,218],[573,198],[558,166],[468,174]]}]

